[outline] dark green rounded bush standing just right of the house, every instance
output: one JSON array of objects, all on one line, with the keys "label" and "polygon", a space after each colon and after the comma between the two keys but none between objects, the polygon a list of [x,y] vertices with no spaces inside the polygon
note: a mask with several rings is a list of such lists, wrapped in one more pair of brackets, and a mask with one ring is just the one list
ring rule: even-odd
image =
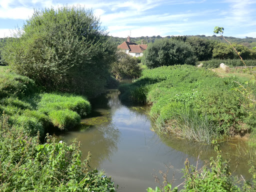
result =
[{"label": "dark green rounded bush standing just right of the house", "polygon": [[181,40],[160,39],[148,45],[144,51],[144,60],[148,68],[174,64],[194,64],[192,47]]}]

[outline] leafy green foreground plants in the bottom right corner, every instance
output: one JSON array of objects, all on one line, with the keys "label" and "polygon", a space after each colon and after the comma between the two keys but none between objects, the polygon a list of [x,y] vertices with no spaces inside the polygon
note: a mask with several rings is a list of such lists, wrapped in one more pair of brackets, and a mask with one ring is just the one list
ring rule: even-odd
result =
[{"label": "leafy green foreground plants in the bottom right corner", "polygon": [[[210,163],[204,164],[203,166],[198,165],[198,160],[196,166],[190,165],[188,159],[184,162],[184,168],[182,172],[184,174],[185,181],[184,185],[180,189],[181,192],[199,192],[199,191],[247,191],[252,192],[256,190],[256,169],[249,162],[251,168],[249,172],[252,174],[251,181],[244,180],[240,182],[237,176],[232,176],[229,170],[229,161],[223,160],[221,156],[221,151],[216,140],[212,140],[214,145],[214,150],[217,153],[216,158],[210,157]],[[198,156],[199,157],[199,156]],[[175,187],[171,190],[171,184],[167,182],[163,189],[155,187],[147,188],[147,191],[177,191],[178,188]]]}]

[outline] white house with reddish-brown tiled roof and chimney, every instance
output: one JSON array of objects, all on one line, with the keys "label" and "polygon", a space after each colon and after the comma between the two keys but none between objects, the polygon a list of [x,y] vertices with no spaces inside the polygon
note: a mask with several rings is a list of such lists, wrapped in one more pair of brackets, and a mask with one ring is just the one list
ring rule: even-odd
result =
[{"label": "white house with reddish-brown tiled roof and chimney", "polygon": [[117,46],[127,54],[131,56],[143,56],[143,51],[147,48],[146,44],[143,44],[143,40],[141,40],[141,44],[136,44],[135,42],[130,42],[130,36],[127,37],[127,41],[123,41],[120,45]]}]

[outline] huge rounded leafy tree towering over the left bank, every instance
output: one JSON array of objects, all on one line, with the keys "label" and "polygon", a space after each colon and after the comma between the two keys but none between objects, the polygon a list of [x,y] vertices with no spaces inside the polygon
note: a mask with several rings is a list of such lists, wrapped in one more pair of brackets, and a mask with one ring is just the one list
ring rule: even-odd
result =
[{"label": "huge rounded leafy tree towering over the left bank", "polygon": [[2,57],[15,72],[48,89],[93,96],[104,88],[115,46],[91,10],[34,10],[14,35],[18,38],[7,40]]}]

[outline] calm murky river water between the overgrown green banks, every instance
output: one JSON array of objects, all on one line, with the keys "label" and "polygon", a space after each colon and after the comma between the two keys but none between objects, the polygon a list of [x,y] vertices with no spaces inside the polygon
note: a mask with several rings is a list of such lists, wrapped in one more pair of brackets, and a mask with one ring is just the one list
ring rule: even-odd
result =
[{"label": "calm murky river water between the overgrown green banks", "polygon": [[[202,165],[216,155],[212,146],[154,133],[150,129],[153,121],[147,114],[149,107],[125,105],[118,94],[118,90],[109,90],[93,99],[92,113],[81,120],[81,127],[62,135],[68,143],[74,139],[81,142],[82,158],[90,151],[90,167],[111,176],[118,184],[117,191],[155,188],[158,183],[153,175],[162,183],[158,170],[166,172],[166,166],[170,167],[168,180],[174,174],[172,185],[176,186],[183,182],[180,171],[186,158],[195,165],[199,155],[198,163]],[[243,140],[223,142],[220,146],[224,157],[231,159],[234,174],[249,179],[248,151]]]}]

